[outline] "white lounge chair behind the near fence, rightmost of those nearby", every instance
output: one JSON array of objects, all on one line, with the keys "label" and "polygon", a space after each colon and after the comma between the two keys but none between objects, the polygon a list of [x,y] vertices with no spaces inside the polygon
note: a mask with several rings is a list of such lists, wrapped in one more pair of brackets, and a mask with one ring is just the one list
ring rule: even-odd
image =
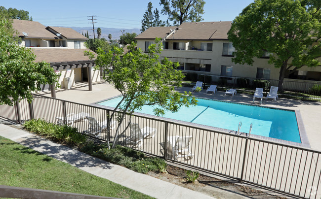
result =
[{"label": "white lounge chair behind the near fence, rightmost of those nearby", "polygon": [[172,151],[174,160],[177,158],[193,158],[194,154],[190,150],[190,141],[192,140],[192,135],[190,136],[168,136],[168,146],[169,151]]}]

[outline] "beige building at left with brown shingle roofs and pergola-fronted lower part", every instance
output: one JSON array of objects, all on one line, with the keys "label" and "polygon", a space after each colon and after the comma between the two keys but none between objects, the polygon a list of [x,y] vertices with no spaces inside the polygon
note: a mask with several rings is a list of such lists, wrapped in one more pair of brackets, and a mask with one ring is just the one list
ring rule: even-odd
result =
[{"label": "beige building at left with brown shingle roofs and pergola-fronted lower part", "polygon": [[[60,74],[61,88],[80,81],[100,81],[100,71],[94,70],[94,62],[83,55],[84,51],[91,51],[84,45],[87,37],[71,28],[45,27],[35,21],[14,19],[12,27],[21,38],[19,45],[33,49],[36,62],[46,61]],[[49,85],[43,85],[42,90],[47,89]]]}]

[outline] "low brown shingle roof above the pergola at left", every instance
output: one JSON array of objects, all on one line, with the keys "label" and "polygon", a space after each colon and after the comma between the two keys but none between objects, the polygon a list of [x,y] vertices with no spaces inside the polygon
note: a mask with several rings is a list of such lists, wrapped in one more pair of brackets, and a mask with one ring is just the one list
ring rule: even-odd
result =
[{"label": "low brown shingle roof above the pergola at left", "polygon": [[[36,55],[35,62],[46,61],[48,63],[55,62],[76,62],[88,61],[88,57],[83,55],[83,51],[91,51],[90,49],[34,49]],[[93,51],[91,51],[94,53]],[[97,54],[94,53],[96,56]]]}]

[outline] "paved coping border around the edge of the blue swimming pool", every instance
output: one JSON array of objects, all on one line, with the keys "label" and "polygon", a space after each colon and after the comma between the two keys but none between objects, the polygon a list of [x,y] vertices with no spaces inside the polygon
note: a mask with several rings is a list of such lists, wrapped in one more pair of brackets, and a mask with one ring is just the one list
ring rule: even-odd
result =
[{"label": "paved coping border around the edge of the blue swimming pool", "polygon": [[[99,100],[99,101],[90,103],[89,105],[100,107],[100,108],[104,108],[104,109],[114,110],[115,107],[100,105],[100,104],[97,104],[97,103],[100,103],[100,102],[103,102],[103,101],[107,101],[107,100],[110,100],[110,99],[115,99],[115,98],[118,98],[118,97],[121,97],[121,96],[122,95],[118,95],[118,96],[114,96],[112,98]],[[201,97],[197,97],[197,98],[205,99],[205,100],[220,101],[220,102],[226,102],[226,103],[235,103],[235,104],[241,104],[241,105],[249,105],[249,106],[255,106],[255,107],[270,108],[270,109],[277,109],[277,110],[285,110],[285,111],[294,112],[295,116],[296,116],[298,129],[299,129],[299,135],[300,135],[301,143],[292,142],[292,141],[283,140],[283,139],[277,139],[277,138],[273,138],[273,137],[266,137],[266,136],[261,136],[261,135],[256,135],[256,134],[250,134],[250,136],[249,136],[248,135],[249,133],[244,133],[244,132],[239,132],[239,135],[242,135],[242,136],[245,136],[245,137],[253,137],[253,138],[261,139],[261,140],[264,140],[264,141],[272,141],[272,142],[288,144],[288,145],[292,145],[292,146],[294,145],[294,146],[298,146],[298,147],[305,147],[305,148],[311,149],[311,146],[310,146],[310,143],[309,143],[309,139],[308,139],[307,133],[305,131],[303,120],[302,120],[301,113],[300,113],[299,110],[290,110],[290,109],[285,109],[285,108],[275,108],[275,107],[269,107],[269,106],[253,105],[253,104],[247,104],[247,103],[223,101],[223,100],[208,99],[208,98],[201,98]],[[134,114],[137,115],[137,116],[143,116],[143,117],[162,120],[162,121],[166,121],[166,122],[183,124],[183,125],[190,126],[190,127],[201,128],[201,129],[205,129],[205,130],[208,130],[208,131],[216,131],[216,132],[219,132],[219,133],[228,133],[228,134],[231,134],[231,133],[232,134],[237,134],[236,131],[232,131],[232,130],[228,130],[228,129],[221,129],[221,128],[217,128],[217,127],[211,127],[211,126],[207,126],[207,125],[201,125],[201,124],[186,122],[186,121],[182,121],[182,120],[176,120],[176,119],[171,119],[171,118],[165,118],[165,117],[150,115],[150,114],[146,114],[146,113],[134,112]]]}]

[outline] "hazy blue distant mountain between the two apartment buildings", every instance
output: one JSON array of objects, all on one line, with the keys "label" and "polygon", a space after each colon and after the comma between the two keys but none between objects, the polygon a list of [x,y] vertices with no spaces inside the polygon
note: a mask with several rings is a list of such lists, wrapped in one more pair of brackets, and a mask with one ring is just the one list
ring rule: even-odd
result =
[{"label": "hazy blue distant mountain between the two apartment buildings", "polygon": [[[66,28],[72,28],[75,31],[77,31],[78,33],[89,33],[89,38],[94,38],[94,34],[92,32],[92,27],[66,27]],[[95,27],[95,29],[97,29],[98,27]],[[120,35],[122,34],[120,32],[120,30],[125,30],[124,33],[136,33],[137,35],[140,34],[140,30],[139,29],[115,29],[115,28],[100,28],[101,29],[101,38],[106,38],[107,40],[109,40],[108,38],[108,34],[112,34],[112,40],[115,39],[120,39]],[[97,38],[97,31],[95,30],[95,37]]]}]

